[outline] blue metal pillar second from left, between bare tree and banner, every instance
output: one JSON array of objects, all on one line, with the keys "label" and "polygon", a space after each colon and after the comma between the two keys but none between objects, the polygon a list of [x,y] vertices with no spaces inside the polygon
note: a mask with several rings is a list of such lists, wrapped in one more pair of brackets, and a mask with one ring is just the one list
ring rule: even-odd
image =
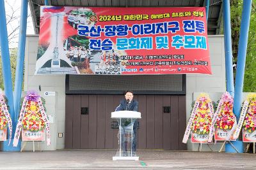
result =
[{"label": "blue metal pillar second from left, between bare tree and banner", "polygon": [[[17,64],[15,73],[15,87],[14,87],[14,111],[15,119],[13,120],[13,127],[16,129],[20,112],[20,97],[22,92],[23,69],[24,69],[24,55],[26,45],[26,31],[28,18],[28,0],[22,0],[20,11],[20,30],[19,30],[19,46],[17,53]],[[14,136],[14,133],[13,133]]]}]

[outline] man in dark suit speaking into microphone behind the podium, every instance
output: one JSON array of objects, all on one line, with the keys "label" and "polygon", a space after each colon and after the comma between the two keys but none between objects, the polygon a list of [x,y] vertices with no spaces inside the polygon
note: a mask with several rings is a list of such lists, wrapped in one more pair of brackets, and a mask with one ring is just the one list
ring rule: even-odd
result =
[{"label": "man in dark suit speaking into microphone behind the podium", "polygon": [[[120,101],[119,106],[116,108],[115,111],[122,111],[122,110],[128,110],[128,111],[138,111],[138,101],[133,100],[133,92],[130,90],[127,90],[125,92],[125,99],[122,99]],[[121,123],[122,128],[125,129],[125,126],[128,124],[131,124],[129,120],[124,120]],[[133,125],[133,133],[134,133],[134,139],[132,140],[132,150],[136,152],[137,148],[137,129],[138,129],[138,120],[135,120]],[[121,145],[124,146],[124,152],[127,151],[127,141],[122,140]]]}]

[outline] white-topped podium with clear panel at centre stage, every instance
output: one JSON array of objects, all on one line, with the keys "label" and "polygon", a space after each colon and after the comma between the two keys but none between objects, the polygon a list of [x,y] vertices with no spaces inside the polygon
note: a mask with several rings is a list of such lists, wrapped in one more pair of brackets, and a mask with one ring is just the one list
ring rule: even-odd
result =
[{"label": "white-topped podium with clear panel at centre stage", "polygon": [[113,160],[139,160],[139,157],[132,149],[134,141],[133,126],[136,119],[141,118],[141,113],[137,111],[115,111],[111,113],[111,118],[118,121],[118,150]]}]

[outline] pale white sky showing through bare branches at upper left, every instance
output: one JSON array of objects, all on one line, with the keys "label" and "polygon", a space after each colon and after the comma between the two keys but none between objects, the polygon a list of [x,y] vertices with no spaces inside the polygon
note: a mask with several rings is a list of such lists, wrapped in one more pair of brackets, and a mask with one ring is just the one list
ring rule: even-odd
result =
[{"label": "pale white sky showing through bare branches at upper left", "polygon": [[[10,48],[17,48],[18,47],[18,41],[19,41],[19,27],[20,24],[20,6],[21,6],[21,0],[4,0],[4,6],[5,6],[5,13],[6,13],[6,22],[10,21],[10,16],[13,15],[13,20],[11,20],[7,24],[7,31],[8,36],[13,32],[13,30],[16,29],[15,33],[10,35],[12,37],[9,47]],[[30,14],[30,9],[28,5],[28,20],[27,20],[27,32],[26,34],[35,34],[35,31],[33,29],[33,22]]]}]

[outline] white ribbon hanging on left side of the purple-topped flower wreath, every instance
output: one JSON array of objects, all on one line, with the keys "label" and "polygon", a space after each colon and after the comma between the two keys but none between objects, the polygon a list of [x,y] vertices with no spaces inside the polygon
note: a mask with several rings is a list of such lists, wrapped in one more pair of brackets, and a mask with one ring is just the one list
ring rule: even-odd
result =
[{"label": "white ribbon hanging on left side of the purple-topped flower wreath", "polygon": [[21,107],[21,110],[20,110],[19,121],[18,121],[18,124],[17,124],[17,127],[16,127],[14,138],[13,138],[13,146],[15,146],[15,147],[19,143],[20,131],[21,131],[21,127],[22,127],[21,124],[22,124],[22,120],[23,120],[23,117],[24,117],[24,111],[26,110],[27,103],[28,103],[28,100],[25,97],[24,100],[23,100],[23,103],[22,103],[22,107]]}]

